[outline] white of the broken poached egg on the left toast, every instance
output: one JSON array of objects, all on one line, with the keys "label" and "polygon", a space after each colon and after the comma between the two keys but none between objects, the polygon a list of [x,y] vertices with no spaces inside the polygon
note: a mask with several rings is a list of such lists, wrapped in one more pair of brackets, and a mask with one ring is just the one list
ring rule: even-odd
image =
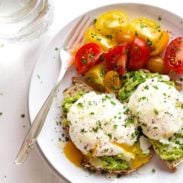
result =
[{"label": "white of the broken poached egg on the left toast", "polygon": [[68,114],[69,135],[76,147],[85,155],[111,156],[124,154],[127,160],[134,157],[117,144],[133,145],[136,126],[125,125],[126,107],[113,95],[90,92],[75,102]]}]

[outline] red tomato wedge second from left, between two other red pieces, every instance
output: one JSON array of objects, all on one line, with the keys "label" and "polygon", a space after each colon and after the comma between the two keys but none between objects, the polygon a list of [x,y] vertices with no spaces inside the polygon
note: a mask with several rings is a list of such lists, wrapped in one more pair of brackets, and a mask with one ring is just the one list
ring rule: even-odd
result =
[{"label": "red tomato wedge second from left, between two other red pieces", "polygon": [[107,69],[115,70],[119,75],[123,75],[126,70],[129,46],[124,43],[115,46],[105,54]]}]

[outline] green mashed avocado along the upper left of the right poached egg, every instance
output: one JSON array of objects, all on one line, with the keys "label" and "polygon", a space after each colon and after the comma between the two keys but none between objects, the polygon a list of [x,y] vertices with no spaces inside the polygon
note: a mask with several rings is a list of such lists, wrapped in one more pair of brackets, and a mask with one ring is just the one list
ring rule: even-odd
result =
[{"label": "green mashed avocado along the upper left of the right poached egg", "polygon": [[163,80],[162,75],[158,73],[150,73],[147,70],[138,70],[138,71],[131,71],[127,72],[122,77],[122,84],[123,87],[119,90],[118,98],[121,102],[128,100],[131,94],[136,90],[136,88],[143,82],[145,82],[149,78],[158,77],[163,82],[167,84],[173,85],[173,82],[168,80]]}]

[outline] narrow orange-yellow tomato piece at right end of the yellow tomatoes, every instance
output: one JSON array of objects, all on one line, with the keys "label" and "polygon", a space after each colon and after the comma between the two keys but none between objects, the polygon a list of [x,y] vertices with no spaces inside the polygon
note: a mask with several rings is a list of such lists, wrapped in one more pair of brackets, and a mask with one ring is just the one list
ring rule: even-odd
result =
[{"label": "narrow orange-yellow tomato piece at right end of the yellow tomatoes", "polygon": [[151,52],[151,56],[159,55],[161,52],[163,52],[163,50],[166,48],[168,44],[168,41],[169,41],[169,34],[167,31],[163,31],[162,36],[157,41]]}]

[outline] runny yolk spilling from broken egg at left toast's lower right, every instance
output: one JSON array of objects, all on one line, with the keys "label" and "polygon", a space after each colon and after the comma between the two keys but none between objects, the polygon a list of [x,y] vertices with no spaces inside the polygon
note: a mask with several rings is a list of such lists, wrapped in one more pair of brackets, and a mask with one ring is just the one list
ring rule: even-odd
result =
[{"label": "runny yolk spilling from broken egg at left toast's lower right", "polygon": [[123,148],[125,151],[130,152],[135,155],[135,158],[131,161],[131,167],[134,169],[149,162],[149,160],[151,159],[151,155],[149,155],[149,154],[146,155],[146,154],[142,153],[139,144],[134,144],[132,146],[130,146],[128,144],[116,144],[116,145]]}]

